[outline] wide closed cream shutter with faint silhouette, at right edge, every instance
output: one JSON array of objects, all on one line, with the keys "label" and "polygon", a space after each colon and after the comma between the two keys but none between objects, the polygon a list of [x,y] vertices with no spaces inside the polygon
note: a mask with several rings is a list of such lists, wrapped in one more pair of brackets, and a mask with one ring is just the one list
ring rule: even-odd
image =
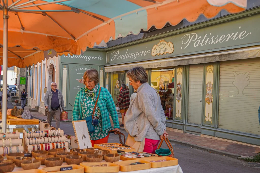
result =
[{"label": "wide closed cream shutter with faint silhouette, at right edge", "polygon": [[260,135],[260,59],[220,62],[218,127]]}]

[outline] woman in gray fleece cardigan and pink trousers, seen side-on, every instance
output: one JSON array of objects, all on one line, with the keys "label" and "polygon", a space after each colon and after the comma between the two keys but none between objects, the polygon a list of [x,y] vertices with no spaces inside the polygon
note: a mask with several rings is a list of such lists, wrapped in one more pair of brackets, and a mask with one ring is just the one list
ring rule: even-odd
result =
[{"label": "woman in gray fleece cardigan and pink trousers, seen side-on", "polygon": [[135,67],[126,75],[137,94],[126,112],[125,129],[135,141],[141,142],[145,139],[144,152],[155,153],[163,135],[168,136],[160,96],[147,84],[148,75],[145,68]]}]

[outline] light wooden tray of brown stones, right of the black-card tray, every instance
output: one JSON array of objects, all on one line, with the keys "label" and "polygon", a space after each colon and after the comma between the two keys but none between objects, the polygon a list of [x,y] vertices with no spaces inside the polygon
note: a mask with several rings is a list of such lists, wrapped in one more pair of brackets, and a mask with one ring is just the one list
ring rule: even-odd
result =
[{"label": "light wooden tray of brown stones, right of the black-card tray", "polygon": [[[90,167],[92,165],[102,165],[107,164],[107,167]],[[84,167],[84,171],[87,173],[109,173],[109,172],[119,172],[119,165],[109,162],[99,162],[99,163],[80,163],[80,166]]]}]

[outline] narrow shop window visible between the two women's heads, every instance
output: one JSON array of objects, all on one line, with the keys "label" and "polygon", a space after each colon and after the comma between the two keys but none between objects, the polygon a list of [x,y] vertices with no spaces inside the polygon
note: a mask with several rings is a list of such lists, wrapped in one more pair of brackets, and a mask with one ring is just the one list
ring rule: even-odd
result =
[{"label": "narrow shop window visible between the two women's heads", "polygon": [[119,89],[121,88],[121,84],[125,84],[126,72],[112,72],[111,76],[111,95],[113,97],[114,103],[116,104],[119,97]]}]

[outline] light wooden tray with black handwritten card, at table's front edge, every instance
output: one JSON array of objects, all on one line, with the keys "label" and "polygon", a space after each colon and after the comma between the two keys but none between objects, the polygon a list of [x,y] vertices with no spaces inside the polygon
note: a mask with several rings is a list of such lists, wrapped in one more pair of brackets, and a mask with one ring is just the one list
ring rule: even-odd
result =
[{"label": "light wooden tray with black handwritten card, at table's front edge", "polygon": [[[70,166],[72,166],[72,170],[60,171],[61,168]],[[47,173],[52,171],[55,171],[55,173],[84,173],[84,168],[80,165],[62,165],[57,167],[42,168],[42,170],[46,171]]]}]

